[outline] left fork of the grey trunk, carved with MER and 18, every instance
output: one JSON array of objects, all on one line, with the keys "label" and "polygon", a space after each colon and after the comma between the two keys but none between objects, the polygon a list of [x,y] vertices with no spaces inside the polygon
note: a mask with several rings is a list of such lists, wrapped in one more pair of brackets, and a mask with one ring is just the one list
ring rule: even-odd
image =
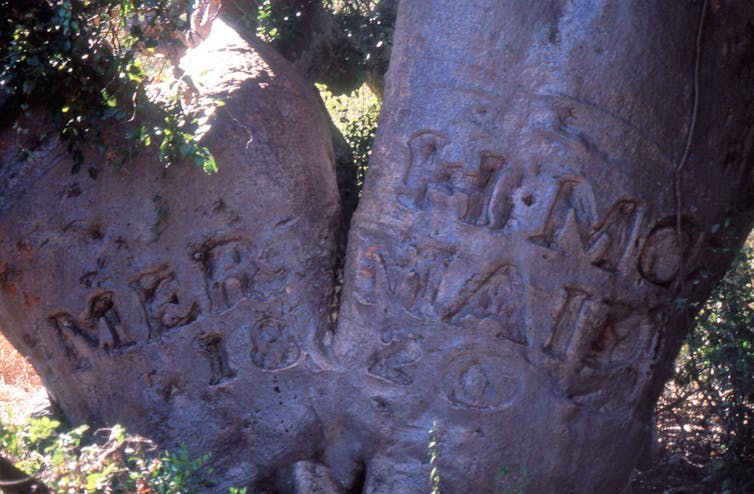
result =
[{"label": "left fork of the grey trunk, carved with MER and 18", "polygon": [[219,22],[187,57],[200,106],[225,102],[216,174],[89,153],[92,180],[55,141],[14,162],[4,133],[0,326],[71,422],[210,452],[239,485],[316,450],[338,190],[324,111],[282,58]]}]

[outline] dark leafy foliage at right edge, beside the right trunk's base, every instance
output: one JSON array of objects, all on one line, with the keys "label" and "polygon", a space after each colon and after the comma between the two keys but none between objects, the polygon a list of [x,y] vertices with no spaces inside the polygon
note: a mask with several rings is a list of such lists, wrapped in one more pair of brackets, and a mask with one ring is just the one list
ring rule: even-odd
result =
[{"label": "dark leafy foliage at right edge, beside the right trunk's base", "polygon": [[701,393],[719,424],[711,477],[722,492],[754,491],[754,237],[701,309],[677,361],[676,385]]}]

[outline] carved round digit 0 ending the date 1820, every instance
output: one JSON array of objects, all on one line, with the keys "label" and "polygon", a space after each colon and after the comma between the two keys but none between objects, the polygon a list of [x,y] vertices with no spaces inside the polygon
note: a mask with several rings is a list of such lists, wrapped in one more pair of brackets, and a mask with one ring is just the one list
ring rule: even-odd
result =
[{"label": "carved round digit 0 ending the date 1820", "polygon": [[445,367],[443,387],[453,405],[474,410],[500,410],[510,406],[519,392],[513,367],[501,365],[500,356],[464,352]]}]

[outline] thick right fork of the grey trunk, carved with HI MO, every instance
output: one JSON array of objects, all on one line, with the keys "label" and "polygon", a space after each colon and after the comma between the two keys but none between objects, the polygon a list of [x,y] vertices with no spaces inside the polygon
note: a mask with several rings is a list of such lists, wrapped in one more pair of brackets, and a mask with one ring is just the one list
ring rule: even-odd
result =
[{"label": "thick right fork of the grey trunk, carved with HI MO", "polygon": [[677,307],[750,224],[752,20],[747,2],[401,4],[334,344],[365,375],[367,484],[409,492],[436,421],[443,492],[523,469],[530,492],[621,490]]}]

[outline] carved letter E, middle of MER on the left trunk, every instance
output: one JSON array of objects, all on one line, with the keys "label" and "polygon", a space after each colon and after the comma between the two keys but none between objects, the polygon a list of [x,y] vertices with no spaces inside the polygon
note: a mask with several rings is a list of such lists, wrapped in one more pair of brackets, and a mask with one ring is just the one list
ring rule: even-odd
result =
[{"label": "carved letter E, middle of MER on the left trunk", "polygon": [[149,337],[185,326],[199,316],[199,304],[179,294],[175,273],[167,266],[144,273],[131,283],[146,315]]}]

